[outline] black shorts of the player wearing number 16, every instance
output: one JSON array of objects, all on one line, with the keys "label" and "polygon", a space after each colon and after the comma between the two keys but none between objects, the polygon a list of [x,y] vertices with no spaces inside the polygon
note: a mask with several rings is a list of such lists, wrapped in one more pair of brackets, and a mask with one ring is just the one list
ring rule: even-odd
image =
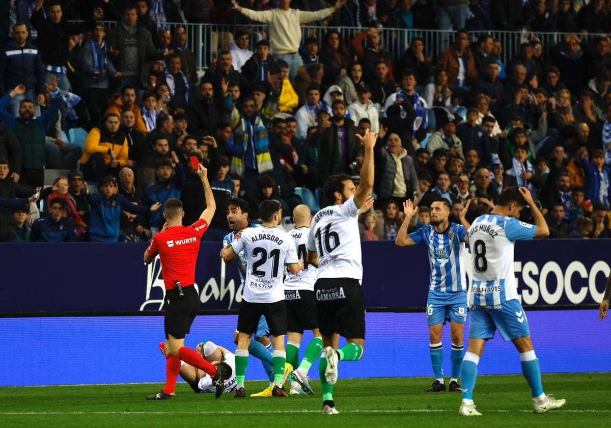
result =
[{"label": "black shorts of the player wearing number 16", "polygon": [[365,339],[365,298],[358,279],[319,278],[314,284],[318,328],[323,336]]}]

